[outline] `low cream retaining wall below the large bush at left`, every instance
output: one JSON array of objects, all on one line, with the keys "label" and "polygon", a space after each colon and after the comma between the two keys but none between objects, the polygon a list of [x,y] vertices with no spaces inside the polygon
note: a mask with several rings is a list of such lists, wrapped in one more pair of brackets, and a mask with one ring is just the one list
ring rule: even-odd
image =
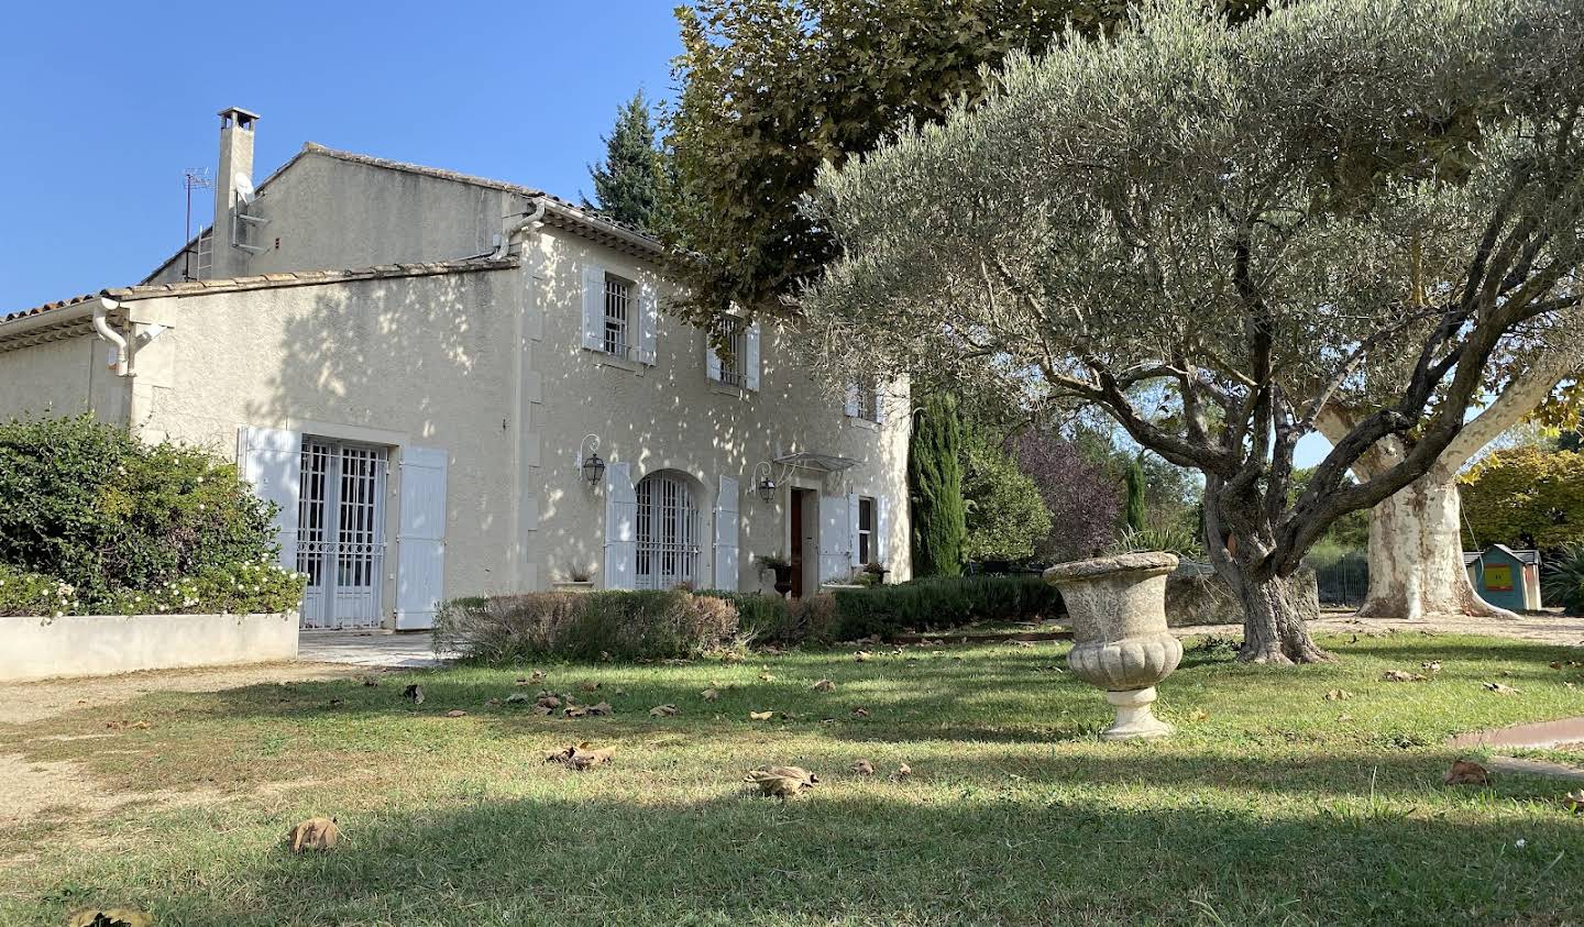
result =
[{"label": "low cream retaining wall below the large bush at left", "polygon": [[0,681],[295,659],[296,615],[0,618]]}]

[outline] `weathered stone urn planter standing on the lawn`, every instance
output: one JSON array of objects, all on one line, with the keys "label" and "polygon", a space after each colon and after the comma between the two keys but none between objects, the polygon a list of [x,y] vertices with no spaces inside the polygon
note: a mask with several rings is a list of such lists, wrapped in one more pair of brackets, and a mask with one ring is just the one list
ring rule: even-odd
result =
[{"label": "weathered stone urn planter standing on the lawn", "polygon": [[1106,740],[1164,737],[1172,726],[1155,718],[1155,685],[1172,675],[1183,645],[1166,628],[1166,577],[1177,569],[1171,553],[1123,553],[1063,563],[1045,570],[1061,589],[1072,624],[1072,675],[1106,689],[1117,719]]}]

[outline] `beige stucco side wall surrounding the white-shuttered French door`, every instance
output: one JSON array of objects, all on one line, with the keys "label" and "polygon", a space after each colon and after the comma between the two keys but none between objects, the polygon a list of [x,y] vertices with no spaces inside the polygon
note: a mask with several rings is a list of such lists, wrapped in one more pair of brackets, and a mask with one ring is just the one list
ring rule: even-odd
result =
[{"label": "beige stucco side wall surrounding the white-shuttered French door", "polygon": [[402,448],[444,448],[447,594],[520,588],[521,282],[474,271],[127,303],[139,326],[169,326],[133,357],[139,434],[227,458],[242,426],[390,447],[386,616]]}]

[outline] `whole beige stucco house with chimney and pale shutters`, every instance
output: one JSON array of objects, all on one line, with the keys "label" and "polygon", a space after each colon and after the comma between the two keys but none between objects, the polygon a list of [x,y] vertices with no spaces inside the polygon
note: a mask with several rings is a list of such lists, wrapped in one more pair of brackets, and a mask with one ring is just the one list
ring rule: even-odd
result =
[{"label": "whole beige stucco house with chimney and pale shutters", "polygon": [[136,285],[0,315],[0,415],[234,455],[310,575],[306,628],[759,589],[765,555],[797,593],[909,575],[903,387],[833,395],[768,322],[718,353],[664,312],[657,241],[542,190],[317,144],[255,187],[258,117],[220,122],[212,228]]}]

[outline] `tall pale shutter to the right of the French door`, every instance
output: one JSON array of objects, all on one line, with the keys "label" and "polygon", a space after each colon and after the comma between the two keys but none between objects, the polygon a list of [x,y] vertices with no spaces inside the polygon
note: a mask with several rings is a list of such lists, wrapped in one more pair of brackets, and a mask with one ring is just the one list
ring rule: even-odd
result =
[{"label": "tall pale shutter to the right of the French door", "polygon": [[396,631],[434,628],[445,599],[445,467],[437,447],[401,452],[401,528],[396,532]]}]

